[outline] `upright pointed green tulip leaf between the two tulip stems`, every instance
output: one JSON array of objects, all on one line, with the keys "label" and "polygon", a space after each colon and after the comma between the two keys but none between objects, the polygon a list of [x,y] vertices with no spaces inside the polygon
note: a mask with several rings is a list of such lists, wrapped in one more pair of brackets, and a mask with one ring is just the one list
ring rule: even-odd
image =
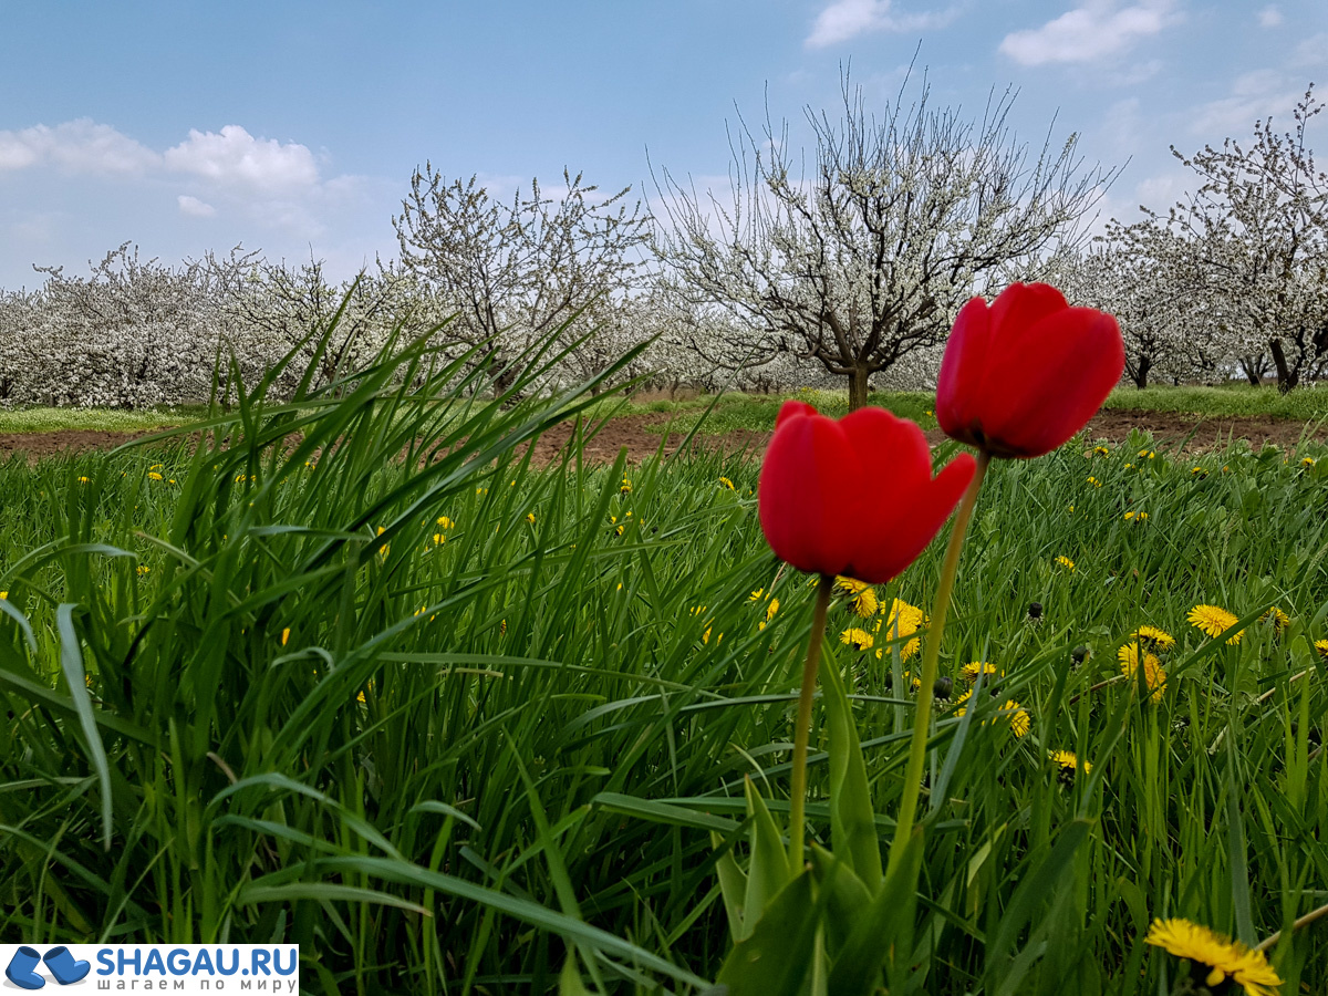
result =
[{"label": "upright pointed green tulip leaf between the two tulip stems", "polygon": [[830,835],[839,861],[867,888],[880,886],[880,841],[876,837],[871,785],[862,760],[858,725],[853,718],[843,677],[833,664],[822,669],[826,720],[830,733]]}]

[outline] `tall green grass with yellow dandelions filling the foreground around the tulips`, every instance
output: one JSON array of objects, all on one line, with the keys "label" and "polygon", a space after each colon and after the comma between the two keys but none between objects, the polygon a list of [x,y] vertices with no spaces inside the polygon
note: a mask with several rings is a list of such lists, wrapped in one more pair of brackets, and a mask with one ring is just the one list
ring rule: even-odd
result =
[{"label": "tall green grass with yellow dandelions filling the foreground around the tulips", "polygon": [[[744,781],[788,813],[813,596],[762,539],[758,467],[535,469],[517,444],[588,397],[501,408],[458,369],[392,388],[396,363],[197,449],[0,466],[0,939],[297,942],[329,995],[551,992],[572,947],[592,989],[714,977]],[[989,474],[942,648],[915,991],[1170,992],[1155,916],[1282,930],[1282,991],[1328,987],[1328,923],[1288,930],[1328,900],[1328,454],[1147,442]],[[879,608],[931,604],[940,546]],[[884,843],[918,659],[869,608],[835,602],[833,636],[872,647],[831,639],[826,665]],[[1175,639],[1155,696],[1118,663],[1145,624]],[[973,661],[993,673],[960,706]],[[827,785],[814,738],[822,839]]]}]

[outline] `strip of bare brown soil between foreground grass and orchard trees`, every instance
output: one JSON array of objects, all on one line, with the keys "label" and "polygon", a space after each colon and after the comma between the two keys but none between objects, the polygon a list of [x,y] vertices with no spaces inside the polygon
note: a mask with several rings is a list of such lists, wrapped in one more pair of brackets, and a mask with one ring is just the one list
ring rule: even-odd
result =
[{"label": "strip of bare brown soil between foreground grass and orchard trees", "polygon": [[[586,444],[584,454],[591,461],[611,462],[618,457],[619,449],[625,446],[627,459],[633,463],[640,462],[659,450],[660,440],[663,438],[657,432],[651,432],[647,426],[659,425],[665,420],[667,416],[657,413],[615,418]],[[1247,440],[1254,449],[1259,449],[1270,442],[1283,448],[1292,448],[1300,441],[1305,426],[1303,422],[1268,416],[1203,418],[1175,412],[1123,410],[1100,412],[1088,424],[1089,438],[1108,440],[1113,444],[1123,442],[1133,429],[1151,433],[1158,446],[1171,449],[1185,441],[1185,450],[1201,452],[1220,449],[1231,438]],[[558,459],[559,450],[571,438],[571,433],[572,426],[566,422],[555,425],[546,432],[535,442],[534,462],[546,465]],[[29,461],[36,461],[41,457],[62,453],[108,450],[147,434],[92,432],[86,429],[68,429],[52,433],[0,433],[0,459],[5,459],[15,453],[23,453]],[[1328,429],[1321,428],[1313,436],[1323,441],[1328,438]],[[671,434],[665,444],[665,453],[673,453],[681,445],[684,437],[685,433]],[[927,440],[938,444],[944,440],[944,434],[939,429],[928,429]],[[770,433],[741,429],[720,437],[699,436],[695,445],[726,452],[745,449],[752,456],[760,456],[765,452],[769,441]]]}]

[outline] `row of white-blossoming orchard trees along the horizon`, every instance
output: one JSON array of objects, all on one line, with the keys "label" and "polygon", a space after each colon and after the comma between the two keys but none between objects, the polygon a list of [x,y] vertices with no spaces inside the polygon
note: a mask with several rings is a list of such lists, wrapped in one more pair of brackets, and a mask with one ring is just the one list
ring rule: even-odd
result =
[{"label": "row of white-blossoming orchard trees along the horizon", "polygon": [[[1194,191],[1092,239],[1088,214],[1120,171],[1081,169],[1077,135],[1054,150],[1048,133],[1031,159],[1005,124],[1009,92],[965,121],[931,108],[926,82],[906,106],[907,86],[879,118],[847,78],[842,114],[807,109],[803,175],[788,126],[742,124],[732,189],[703,195],[664,170],[653,214],[566,170],[556,195],[534,181],[499,202],[426,163],[392,219],[398,260],[355,280],[242,248],[167,266],[130,243],[86,276],[37,267],[37,290],[0,291],[0,405],[138,408],[214,385],[226,400],[236,374],[252,382],[312,351],[335,321],[321,382],[393,335],[465,352],[495,390],[538,351],[563,353],[552,388],[649,340],[623,377],[671,392],[838,385],[857,406],[872,382],[932,386],[959,308],[1015,280],[1117,315],[1141,388],[1244,376],[1291,390],[1328,374],[1312,84],[1291,131],[1268,120],[1248,145],[1173,147]],[[295,386],[279,377],[272,392]]]}]

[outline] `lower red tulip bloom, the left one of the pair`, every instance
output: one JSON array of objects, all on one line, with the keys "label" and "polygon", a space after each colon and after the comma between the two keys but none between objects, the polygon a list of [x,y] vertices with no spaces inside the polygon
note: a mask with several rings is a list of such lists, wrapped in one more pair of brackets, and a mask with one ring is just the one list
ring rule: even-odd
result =
[{"label": "lower red tulip bloom, the left one of the pair", "polygon": [[786,401],[774,426],[761,466],[761,529],[802,571],[890,580],[936,535],[976,469],[961,453],[934,479],[922,429],[879,408],[835,421]]}]

